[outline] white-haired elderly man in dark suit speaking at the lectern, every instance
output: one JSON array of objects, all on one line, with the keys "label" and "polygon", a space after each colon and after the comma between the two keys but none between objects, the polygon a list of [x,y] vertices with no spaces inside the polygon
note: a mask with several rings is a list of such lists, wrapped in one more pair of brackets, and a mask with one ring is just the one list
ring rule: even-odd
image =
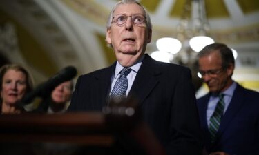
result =
[{"label": "white-haired elderly man in dark suit speaking at the lectern", "polygon": [[100,111],[113,97],[133,96],[139,101],[143,120],[168,154],[200,154],[202,142],[191,72],[144,54],[152,34],[146,10],[137,1],[119,1],[111,10],[106,28],[106,42],[117,61],[79,76],[68,111]]}]

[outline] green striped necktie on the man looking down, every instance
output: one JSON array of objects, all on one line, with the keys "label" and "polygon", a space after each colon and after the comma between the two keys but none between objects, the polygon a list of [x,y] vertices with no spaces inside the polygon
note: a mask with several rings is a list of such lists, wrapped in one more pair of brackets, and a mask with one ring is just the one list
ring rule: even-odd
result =
[{"label": "green striped necktie on the man looking down", "polygon": [[210,118],[210,123],[209,123],[209,132],[211,134],[212,143],[215,141],[218,128],[220,127],[221,117],[224,112],[224,94],[220,94],[218,97],[219,97],[219,101],[215,107],[215,110]]}]

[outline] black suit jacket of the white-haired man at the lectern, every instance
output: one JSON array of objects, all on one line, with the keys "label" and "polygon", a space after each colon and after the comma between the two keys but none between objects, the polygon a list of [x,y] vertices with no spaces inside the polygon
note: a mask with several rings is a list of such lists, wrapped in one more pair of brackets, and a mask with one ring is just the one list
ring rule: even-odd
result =
[{"label": "black suit jacket of the white-haired man at the lectern", "polygon": [[[115,64],[80,76],[68,111],[102,110]],[[144,121],[169,154],[200,154],[200,123],[188,68],[145,54],[129,95],[140,101]]]}]

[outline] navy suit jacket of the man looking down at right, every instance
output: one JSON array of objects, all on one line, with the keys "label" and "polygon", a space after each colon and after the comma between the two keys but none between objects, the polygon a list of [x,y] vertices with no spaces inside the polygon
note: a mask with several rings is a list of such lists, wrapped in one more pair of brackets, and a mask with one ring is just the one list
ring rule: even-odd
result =
[{"label": "navy suit jacket of the man looking down at right", "polygon": [[259,154],[259,93],[237,85],[233,97],[222,116],[215,143],[210,143],[206,110],[210,94],[198,99],[200,124],[208,152],[228,154]]}]

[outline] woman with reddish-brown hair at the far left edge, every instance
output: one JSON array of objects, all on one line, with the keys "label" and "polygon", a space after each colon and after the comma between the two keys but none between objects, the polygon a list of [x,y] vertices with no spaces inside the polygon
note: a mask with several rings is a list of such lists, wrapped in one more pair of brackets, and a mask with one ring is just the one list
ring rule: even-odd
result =
[{"label": "woman with reddish-brown hair at the far left edge", "polygon": [[32,90],[32,77],[28,70],[17,64],[7,64],[0,68],[0,112],[20,114],[23,109],[15,106],[23,96]]}]

